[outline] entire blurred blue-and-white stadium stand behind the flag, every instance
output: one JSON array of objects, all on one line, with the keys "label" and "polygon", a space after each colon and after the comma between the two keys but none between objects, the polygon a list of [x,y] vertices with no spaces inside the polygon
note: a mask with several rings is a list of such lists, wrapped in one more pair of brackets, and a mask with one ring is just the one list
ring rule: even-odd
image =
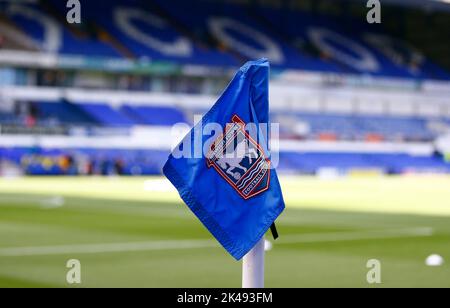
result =
[{"label": "entire blurred blue-and-white stadium stand behind the flag", "polygon": [[[268,57],[274,83],[283,85],[271,117],[280,123],[281,141],[296,145],[295,151],[281,148],[281,172],[450,172],[443,153],[433,150],[450,127],[450,74],[420,51],[426,46],[350,13],[343,18],[319,8],[253,2],[84,1],[81,25],[65,22],[65,1],[0,2],[0,54],[22,55],[0,68],[0,87],[22,87],[14,95],[0,88],[0,106],[13,101],[0,109],[0,158],[27,174],[159,174],[169,149],[148,146],[148,135],[164,141],[174,124],[192,125],[192,115],[208,110],[211,93],[217,96],[230,71]],[[317,102],[310,111],[306,100],[288,95],[300,86],[316,90],[306,95]],[[86,87],[104,93],[84,97]],[[333,96],[339,87],[361,93],[343,99],[342,106],[326,102],[325,94]],[[48,99],[46,91],[54,88]],[[389,108],[368,110],[373,99],[366,97],[378,100],[389,91],[420,93],[425,101],[407,98],[398,102],[400,112],[392,112],[394,93],[383,103]],[[53,127],[63,130],[42,141],[48,137],[43,129]],[[103,140],[107,144],[99,144],[104,136],[110,137]],[[322,150],[302,147],[310,141],[322,142]],[[416,143],[426,151],[403,150]],[[373,145],[373,152],[365,150]]]}]

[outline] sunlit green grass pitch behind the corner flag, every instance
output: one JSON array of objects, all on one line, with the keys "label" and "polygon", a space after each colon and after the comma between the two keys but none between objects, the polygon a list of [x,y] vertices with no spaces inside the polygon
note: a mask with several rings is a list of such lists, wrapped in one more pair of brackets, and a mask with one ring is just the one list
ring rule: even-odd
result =
[{"label": "sunlit green grass pitch behind the corner flag", "polygon": [[[450,178],[281,181],[267,287],[450,287]],[[431,254],[447,263],[426,266]],[[69,259],[80,287],[241,284],[241,263],[162,178],[0,180],[0,287],[73,287]],[[381,285],[366,281],[369,259]]]}]

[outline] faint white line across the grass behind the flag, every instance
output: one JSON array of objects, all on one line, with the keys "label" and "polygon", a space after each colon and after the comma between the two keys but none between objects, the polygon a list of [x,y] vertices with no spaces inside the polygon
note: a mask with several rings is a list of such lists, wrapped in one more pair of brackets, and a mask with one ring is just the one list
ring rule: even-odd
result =
[{"label": "faint white line across the grass behind the flag", "polygon": [[[294,243],[320,243],[338,241],[356,241],[365,239],[390,239],[406,237],[428,237],[433,235],[432,228],[410,228],[392,230],[373,230],[363,232],[336,232],[286,235],[280,237],[277,245]],[[213,240],[168,240],[134,243],[100,243],[63,246],[35,246],[1,248],[0,257],[49,256],[67,254],[100,254],[136,251],[183,250],[215,248]]]}]

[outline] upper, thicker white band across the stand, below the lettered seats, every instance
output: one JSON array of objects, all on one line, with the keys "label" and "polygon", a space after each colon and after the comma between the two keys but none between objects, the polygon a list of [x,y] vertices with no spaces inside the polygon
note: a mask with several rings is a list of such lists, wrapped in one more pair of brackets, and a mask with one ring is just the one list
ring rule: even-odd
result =
[{"label": "upper, thicker white band across the stand, below the lettered seats", "polygon": [[[29,100],[73,103],[99,102],[111,106],[157,105],[186,110],[207,110],[217,97],[211,95],[63,89],[45,87],[0,87],[0,102]],[[449,117],[450,92],[415,92],[366,88],[314,88],[274,81],[270,88],[272,111],[362,114],[382,116]]]}]

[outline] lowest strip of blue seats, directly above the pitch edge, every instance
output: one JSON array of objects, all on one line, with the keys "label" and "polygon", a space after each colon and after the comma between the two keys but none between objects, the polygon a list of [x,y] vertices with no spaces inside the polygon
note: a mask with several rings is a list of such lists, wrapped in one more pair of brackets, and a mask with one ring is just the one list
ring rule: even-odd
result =
[{"label": "lowest strip of blue seats, directly above the pitch edge", "polygon": [[[20,164],[23,157],[36,155],[58,157],[60,155],[83,155],[94,164],[95,172],[102,168],[113,169],[116,161],[121,161],[124,174],[154,175],[161,174],[167,159],[164,150],[122,150],[122,149],[40,149],[40,148],[1,148],[0,158]],[[450,173],[450,163],[440,156],[412,156],[408,154],[362,154],[362,153],[297,153],[281,152],[277,168],[283,173],[315,174],[321,168],[334,168],[341,172],[352,170],[380,170],[391,174],[407,172]],[[28,166],[30,174],[62,174],[58,166],[50,169],[34,162]]]}]

